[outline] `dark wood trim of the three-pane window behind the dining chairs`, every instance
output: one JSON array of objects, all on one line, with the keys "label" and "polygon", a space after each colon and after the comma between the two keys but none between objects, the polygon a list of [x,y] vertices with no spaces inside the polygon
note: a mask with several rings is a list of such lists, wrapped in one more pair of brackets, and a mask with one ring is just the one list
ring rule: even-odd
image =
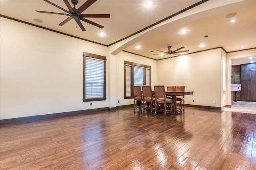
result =
[{"label": "dark wood trim of the three-pane window behind the dining chairs", "polygon": [[[130,84],[130,90],[131,90],[131,96],[126,96],[126,66],[131,66],[131,84]],[[139,66],[144,68],[144,84],[146,84],[146,70],[150,70],[150,85],[151,85],[151,66],[139,64],[139,63],[133,63],[130,61],[124,61],[124,99],[131,99],[133,97],[133,90],[132,86],[134,85],[134,66]]]}]

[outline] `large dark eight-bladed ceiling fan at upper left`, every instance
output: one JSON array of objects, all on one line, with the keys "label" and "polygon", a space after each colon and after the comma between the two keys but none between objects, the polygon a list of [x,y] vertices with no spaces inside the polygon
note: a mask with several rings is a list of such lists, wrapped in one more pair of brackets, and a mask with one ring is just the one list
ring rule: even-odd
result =
[{"label": "large dark eight-bladed ceiling fan at upper left", "polygon": [[69,11],[61,8],[60,6],[57,6],[56,4],[50,2],[49,0],[44,0],[44,1],[48,2],[49,4],[59,8],[61,10],[63,10],[67,14],[62,14],[62,13],[57,13],[57,12],[46,12],[46,11],[36,11],[36,12],[69,16],[66,20],[62,21],[59,24],[60,26],[64,25],[68,21],[74,19],[74,20],[76,20],[76,23],[79,25],[79,27],[82,29],[82,31],[85,31],[85,28],[82,25],[80,20],[85,21],[87,23],[90,23],[90,24],[92,24],[96,27],[103,28],[104,26],[99,25],[98,23],[92,22],[90,20],[87,20],[85,18],[110,18],[110,14],[81,14],[82,12],[84,12],[84,10],[86,10],[89,6],[91,6],[94,2],[96,2],[96,0],[87,0],[78,9],[75,8],[76,4],[78,3],[78,0],[71,0],[72,4],[74,5],[74,8],[71,7],[68,0],[63,0],[64,3],[66,4],[66,6],[68,7]]}]

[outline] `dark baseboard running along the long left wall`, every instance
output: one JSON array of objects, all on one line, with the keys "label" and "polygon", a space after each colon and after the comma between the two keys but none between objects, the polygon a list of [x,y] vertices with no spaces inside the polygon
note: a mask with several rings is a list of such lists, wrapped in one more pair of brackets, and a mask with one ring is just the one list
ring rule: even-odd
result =
[{"label": "dark baseboard running along the long left wall", "polygon": [[99,111],[108,111],[108,110],[115,110],[115,109],[116,109],[116,107],[111,107],[111,108],[104,107],[104,108],[98,108],[98,109],[68,111],[68,112],[52,113],[52,114],[46,114],[46,115],[17,117],[17,118],[12,118],[12,119],[2,119],[2,120],[0,120],[0,125],[10,124],[10,123],[22,123],[22,122],[28,122],[28,121],[37,121],[37,120],[42,120],[42,119],[64,117],[64,116],[77,115],[77,114],[83,114],[83,113],[95,113],[95,112],[99,112]]}]

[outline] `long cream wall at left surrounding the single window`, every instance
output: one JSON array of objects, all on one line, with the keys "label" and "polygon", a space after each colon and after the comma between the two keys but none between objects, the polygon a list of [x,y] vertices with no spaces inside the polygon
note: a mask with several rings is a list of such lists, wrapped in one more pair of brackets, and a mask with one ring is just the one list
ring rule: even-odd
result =
[{"label": "long cream wall at left surrounding the single window", "polygon": [[108,107],[83,102],[82,56],[107,47],[2,17],[0,35],[0,119]]}]

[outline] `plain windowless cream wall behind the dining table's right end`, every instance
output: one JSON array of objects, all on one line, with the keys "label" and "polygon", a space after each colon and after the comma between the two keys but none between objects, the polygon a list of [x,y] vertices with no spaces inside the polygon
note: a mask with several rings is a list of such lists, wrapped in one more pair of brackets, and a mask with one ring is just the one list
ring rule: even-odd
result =
[{"label": "plain windowless cream wall behind the dining table's right end", "polygon": [[186,91],[194,91],[185,96],[185,104],[221,107],[220,53],[221,49],[214,49],[160,60],[157,83],[165,88],[184,85]]}]

